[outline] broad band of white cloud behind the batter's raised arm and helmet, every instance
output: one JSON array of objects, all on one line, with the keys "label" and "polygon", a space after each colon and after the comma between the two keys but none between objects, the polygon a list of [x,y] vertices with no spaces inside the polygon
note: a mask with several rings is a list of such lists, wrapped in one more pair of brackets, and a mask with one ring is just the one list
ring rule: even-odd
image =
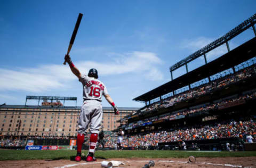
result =
[{"label": "broad band of white cloud behind the batter's raised arm and helmet", "polygon": [[[114,54],[113,54],[114,55]],[[132,52],[119,55],[112,62],[75,62],[83,73],[91,68],[100,75],[140,73],[148,80],[162,80],[163,74],[157,69],[163,62],[154,53]],[[0,90],[25,90],[42,93],[52,89],[69,88],[69,82],[76,79],[69,68],[63,65],[41,65],[38,68],[19,70],[0,69]]]}]

